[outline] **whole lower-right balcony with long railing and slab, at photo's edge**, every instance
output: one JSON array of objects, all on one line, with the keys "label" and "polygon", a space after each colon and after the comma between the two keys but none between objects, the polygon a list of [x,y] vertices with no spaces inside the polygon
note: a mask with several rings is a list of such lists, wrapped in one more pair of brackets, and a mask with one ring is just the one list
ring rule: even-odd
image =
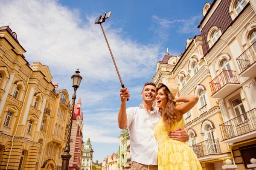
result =
[{"label": "whole lower-right balcony with long railing and slab, at photo's edge", "polygon": [[220,125],[222,143],[236,143],[256,136],[256,108]]}]

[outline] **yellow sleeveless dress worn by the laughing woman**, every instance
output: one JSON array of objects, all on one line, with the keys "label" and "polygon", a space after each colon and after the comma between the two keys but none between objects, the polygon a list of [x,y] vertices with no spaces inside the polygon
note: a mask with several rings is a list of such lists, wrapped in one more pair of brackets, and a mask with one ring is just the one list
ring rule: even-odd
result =
[{"label": "yellow sleeveless dress worn by the laughing woman", "polygon": [[159,143],[157,163],[158,170],[202,170],[201,164],[194,151],[185,142],[172,140],[168,131],[183,127],[184,122],[180,122],[174,127],[165,129],[163,118],[161,117],[154,128],[154,136]]}]

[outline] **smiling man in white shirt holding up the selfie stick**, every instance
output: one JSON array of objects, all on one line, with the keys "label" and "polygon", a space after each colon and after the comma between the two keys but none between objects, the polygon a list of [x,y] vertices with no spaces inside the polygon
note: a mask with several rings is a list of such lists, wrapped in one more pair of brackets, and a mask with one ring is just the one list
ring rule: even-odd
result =
[{"label": "smiling man in white shirt holding up the selfie stick", "polygon": [[[129,128],[131,170],[157,170],[158,142],[154,137],[154,128],[160,118],[155,108],[152,108],[156,98],[157,88],[153,82],[145,83],[141,96],[143,102],[139,107],[127,108],[126,101],[130,97],[127,88],[121,88],[121,106],[118,113],[118,126],[121,129]],[[188,134],[178,128],[170,131],[170,138],[186,142]]]}]

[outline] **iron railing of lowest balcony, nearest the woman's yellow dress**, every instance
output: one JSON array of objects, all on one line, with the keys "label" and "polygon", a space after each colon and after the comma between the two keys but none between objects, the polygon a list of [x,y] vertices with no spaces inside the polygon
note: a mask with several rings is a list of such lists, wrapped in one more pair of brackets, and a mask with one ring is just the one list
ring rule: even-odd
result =
[{"label": "iron railing of lowest balcony, nearest the woman's yellow dress", "polygon": [[206,140],[191,147],[197,157],[221,154],[221,148],[218,140]]}]

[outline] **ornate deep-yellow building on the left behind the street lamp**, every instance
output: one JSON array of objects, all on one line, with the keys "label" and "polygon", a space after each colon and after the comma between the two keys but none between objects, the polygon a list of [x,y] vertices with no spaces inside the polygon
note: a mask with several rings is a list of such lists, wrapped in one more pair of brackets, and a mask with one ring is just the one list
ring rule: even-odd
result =
[{"label": "ornate deep-yellow building on the left behind the street lamp", "polygon": [[29,65],[9,26],[0,27],[0,169],[60,169],[70,101],[48,66]]}]

